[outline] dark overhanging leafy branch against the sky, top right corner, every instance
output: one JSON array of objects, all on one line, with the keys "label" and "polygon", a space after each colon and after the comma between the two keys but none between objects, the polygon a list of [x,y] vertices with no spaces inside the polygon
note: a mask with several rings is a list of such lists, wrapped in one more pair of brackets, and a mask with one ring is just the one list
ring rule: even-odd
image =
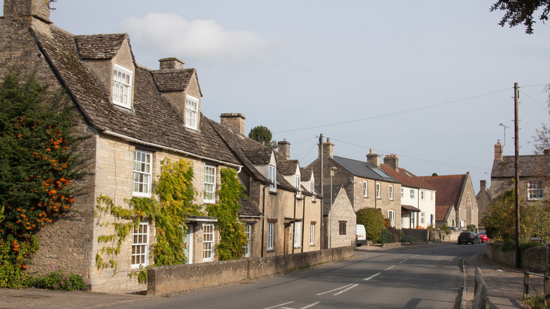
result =
[{"label": "dark overhanging leafy branch against the sky, top right corner", "polygon": [[533,34],[533,25],[537,23],[533,14],[541,9],[542,12],[538,16],[539,20],[544,23],[548,20],[550,13],[550,0],[498,0],[493,6],[492,11],[504,11],[504,16],[499,25],[510,25],[510,28],[516,25],[525,25],[525,33]]}]

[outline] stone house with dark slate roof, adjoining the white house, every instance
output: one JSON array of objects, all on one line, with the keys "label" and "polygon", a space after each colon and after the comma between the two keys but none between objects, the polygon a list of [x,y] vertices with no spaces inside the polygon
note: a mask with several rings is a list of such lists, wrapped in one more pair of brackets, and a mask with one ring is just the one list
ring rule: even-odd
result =
[{"label": "stone house with dark slate roof, adjoining the white house", "polygon": [[308,167],[313,169],[315,179],[321,179],[321,159],[323,156],[323,185],[330,186],[331,167],[336,167],[332,185],[343,186],[355,212],[365,207],[379,209],[384,219],[389,219],[398,229],[401,222],[401,183],[386,174],[380,167],[380,155],[367,154],[367,161],[358,161],[334,155],[334,144],[327,140],[322,144],[322,152]]}]

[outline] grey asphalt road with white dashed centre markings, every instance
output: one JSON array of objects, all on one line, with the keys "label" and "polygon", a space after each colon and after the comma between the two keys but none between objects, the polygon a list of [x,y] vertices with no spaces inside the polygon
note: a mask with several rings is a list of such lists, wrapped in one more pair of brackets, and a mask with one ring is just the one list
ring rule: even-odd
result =
[{"label": "grey asphalt road with white dashed centre markings", "polygon": [[463,257],[485,245],[410,246],[281,277],[109,308],[460,308]]}]

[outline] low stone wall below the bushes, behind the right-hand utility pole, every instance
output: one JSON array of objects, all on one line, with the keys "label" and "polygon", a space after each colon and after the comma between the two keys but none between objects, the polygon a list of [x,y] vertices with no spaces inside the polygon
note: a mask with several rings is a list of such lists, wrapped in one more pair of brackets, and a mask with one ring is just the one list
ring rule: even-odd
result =
[{"label": "low stone wall below the bushes, behind the right-hand utility pole", "polygon": [[[487,243],[487,258],[515,267],[515,250],[502,250],[503,243]],[[521,267],[532,271],[546,271],[547,246],[529,248],[521,254]]]}]

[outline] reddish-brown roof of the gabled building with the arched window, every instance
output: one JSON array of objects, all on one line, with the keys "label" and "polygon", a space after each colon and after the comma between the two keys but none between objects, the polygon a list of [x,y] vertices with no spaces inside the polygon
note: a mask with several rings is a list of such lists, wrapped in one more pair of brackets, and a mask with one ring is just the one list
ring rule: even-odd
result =
[{"label": "reddish-brown roof of the gabled building with the arched window", "polygon": [[446,176],[422,176],[436,190],[436,220],[444,220],[449,209],[458,205],[467,174]]}]

